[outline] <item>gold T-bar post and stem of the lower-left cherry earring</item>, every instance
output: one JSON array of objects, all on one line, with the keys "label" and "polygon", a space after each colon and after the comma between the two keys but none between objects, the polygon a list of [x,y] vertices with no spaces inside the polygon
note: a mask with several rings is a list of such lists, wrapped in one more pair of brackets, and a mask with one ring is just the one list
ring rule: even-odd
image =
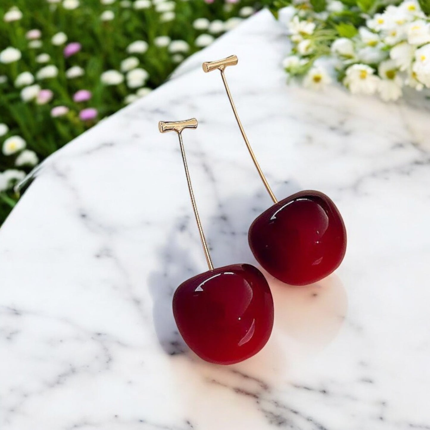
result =
[{"label": "gold T-bar post and stem of the lower-left cherry earring", "polygon": [[190,192],[191,204],[193,205],[194,215],[197,221],[197,227],[199,228],[200,240],[202,241],[203,250],[205,252],[206,261],[208,262],[209,270],[214,270],[211,256],[209,254],[208,244],[206,243],[205,235],[203,233],[202,223],[200,222],[199,212],[197,212],[196,199],[194,198],[190,172],[188,172],[187,158],[185,157],[184,143],[182,142],[182,131],[184,129],[197,129],[197,120],[196,118],[192,118],[186,121],[160,121],[158,123],[158,129],[160,130],[160,133],[166,133],[170,131],[175,131],[176,133],[178,133],[179,145],[181,146],[182,161],[184,162],[185,175],[187,176],[188,191]]}]

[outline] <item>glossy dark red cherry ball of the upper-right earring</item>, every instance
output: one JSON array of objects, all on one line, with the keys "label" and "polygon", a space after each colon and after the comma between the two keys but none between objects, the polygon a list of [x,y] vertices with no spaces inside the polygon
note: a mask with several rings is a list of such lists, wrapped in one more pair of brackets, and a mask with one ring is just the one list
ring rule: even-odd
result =
[{"label": "glossy dark red cherry ball of the upper-right earring", "polygon": [[347,236],[332,200],[301,191],[264,211],[249,227],[249,246],[275,278],[307,285],[325,278],[344,258]]}]

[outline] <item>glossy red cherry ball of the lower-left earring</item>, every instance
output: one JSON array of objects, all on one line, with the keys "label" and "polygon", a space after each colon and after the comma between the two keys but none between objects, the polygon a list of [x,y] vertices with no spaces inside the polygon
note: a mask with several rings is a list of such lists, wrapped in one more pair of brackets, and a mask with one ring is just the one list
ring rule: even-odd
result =
[{"label": "glossy red cherry ball of the lower-left earring", "polygon": [[178,286],[173,315],[184,341],[200,358],[233,364],[258,353],[269,340],[273,299],[256,267],[232,264]]}]

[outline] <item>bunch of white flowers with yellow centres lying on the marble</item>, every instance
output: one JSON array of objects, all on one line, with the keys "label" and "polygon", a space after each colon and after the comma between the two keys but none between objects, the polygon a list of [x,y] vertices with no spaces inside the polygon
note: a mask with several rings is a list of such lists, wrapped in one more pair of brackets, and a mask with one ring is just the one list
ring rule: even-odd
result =
[{"label": "bunch of white flowers with yellow centres lying on the marble", "polygon": [[277,0],[289,6],[289,77],[322,89],[338,80],[353,94],[384,101],[408,86],[430,88],[430,0]]}]

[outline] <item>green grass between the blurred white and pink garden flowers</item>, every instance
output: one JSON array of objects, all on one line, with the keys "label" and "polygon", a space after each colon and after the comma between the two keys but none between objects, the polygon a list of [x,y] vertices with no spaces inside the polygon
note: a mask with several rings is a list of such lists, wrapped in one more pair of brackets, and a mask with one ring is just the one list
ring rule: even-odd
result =
[{"label": "green grass between the blurred white and pink garden flowers", "polygon": [[[0,77],[7,77],[7,82],[0,84],[0,123],[9,128],[9,132],[0,137],[0,147],[8,137],[19,135],[25,139],[27,149],[34,151],[42,161],[97,121],[118,111],[125,105],[125,97],[136,92],[137,88],[130,89],[126,81],[120,85],[106,86],[100,80],[103,71],[120,70],[121,61],[130,56],[126,52],[130,43],[135,40],[147,41],[147,52],[131,55],[138,57],[138,67],[149,74],[143,85],[154,89],[166,80],[180,60],[169,52],[168,47],[156,46],[154,38],[169,36],[172,40],[186,41],[190,49],[181,54],[186,58],[201,49],[196,46],[196,38],[208,33],[208,30],[194,28],[195,19],[204,17],[211,22],[215,19],[225,22],[240,15],[244,6],[252,6],[254,9],[261,7],[261,3],[255,0],[241,0],[234,4],[219,0],[212,4],[203,0],[177,0],[174,3],[175,18],[163,22],[162,13],[157,12],[154,5],[149,9],[136,10],[133,7],[123,7],[120,0],[111,5],[103,5],[100,0],[81,0],[80,6],[74,10],[66,10],[61,3],[50,4],[47,0],[2,0],[0,51],[12,46],[22,52],[22,58],[10,64],[0,63]],[[18,21],[5,22],[3,16],[13,6],[18,7],[23,16]],[[105,10],[114,12],[112,21],[101,21],[100,15]],[[36,49],[29,47],[29,40],[26,38],[27,31],[34,28],[42,32],[42,46]],[[64,58],[64,45],[54,46],[51,43],[52,36],[60,31],[68,36],[66,44],[81,43],[81,51],[70,58]],[[18,74],[29,71],[36,76],[37,71],[46,65],[36,61],[40,53],[49,54],[51,59],[46,64],[54,64],[58,68],[57,77],[35,82],[54,94],[52,101],[43,105],[35,101],[22,101],[22,88],[15,88],[14,85]],[[67,79],[65,71],[75,65],[85,70],[84,76]],[[79,89],[91,91],[91,100],[74,102],[73,95]],[[70,111],[64,117],[52,118],[52,108],[59,105],[68,107]],[[97,119],[80,120],[79,112],[85,107],[96,108]],[[18,155],[6,156],[3,152],[0,153],[0,175],[7,169],[30,171],[31,166],[15,166]],[[7,190],[2,190],[0,181],[0,225],[17,200],[12,186],[11,182]]]}]

